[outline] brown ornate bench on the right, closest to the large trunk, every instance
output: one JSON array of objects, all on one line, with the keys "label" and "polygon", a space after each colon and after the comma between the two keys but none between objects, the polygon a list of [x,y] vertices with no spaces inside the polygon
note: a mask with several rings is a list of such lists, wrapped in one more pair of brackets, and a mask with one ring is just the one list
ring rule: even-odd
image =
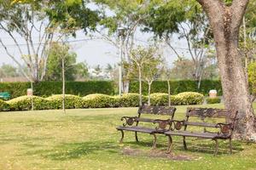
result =
[{"label": "brown ornate bench on the right, closest to the large trunk", "polygon": [[[212,109],[212,108],[188,108],[186,113],[186,119],[183,121],[170,121],[172,126],[170,131],[165,132],[169,137],[169,146],[167,153],[172,150],[172,136],[182,136],[183,146],[187,150],[186,137],[194,137],[200,139],[212,139],[215,141],[214,156],[218,153],[218,139],[229,139],[230,140],[230,154],[232,153],[232,132],[236,122],[237,111],[228,111],[225,109]],[[191,122],[189,116],[197,116],[201,121]],[[224,118],[224,122],[209,123],[205,122],[206,118],[214,118],[214,121],[219,121],[215,118]],[[203,127],[203,132],[189,132],[187,131],[188,126]],[[215,129],[215,132],[207,131],[207,127]],[[183,128],[183,130],[182,130]],[[216,132],[218,130],[218,132]]]}]

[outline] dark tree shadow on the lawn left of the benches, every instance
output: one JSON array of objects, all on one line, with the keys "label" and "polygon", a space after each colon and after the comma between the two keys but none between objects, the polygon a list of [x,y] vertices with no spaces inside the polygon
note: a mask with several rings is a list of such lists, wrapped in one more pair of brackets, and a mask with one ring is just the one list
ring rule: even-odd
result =
[{"label": "dark tree shadow on the lawn left of the benches", "polygon": [[70,143],[60,144],[55,146],[52,150],[36,150],[28,151],[26,155],[40,155],[44,158],[49,158],[55,161],[65,161],[70,159],[79,159],[82,156],[89,154],[101,154],[104,153],[118,153],[119,145],[110,142],[84,142],[84,143]]}]

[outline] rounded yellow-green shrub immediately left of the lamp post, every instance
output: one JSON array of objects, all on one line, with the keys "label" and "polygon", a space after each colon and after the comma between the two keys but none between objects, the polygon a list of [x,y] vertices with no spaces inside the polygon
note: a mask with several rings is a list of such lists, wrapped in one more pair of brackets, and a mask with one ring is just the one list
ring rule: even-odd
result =
[{"label": "rounded yellow-green shrub immediately left of the lamp post", "polygon": [[118,106],[118,99],[106,94],[89,94],[84,98],[85,108],[102,108]]}]

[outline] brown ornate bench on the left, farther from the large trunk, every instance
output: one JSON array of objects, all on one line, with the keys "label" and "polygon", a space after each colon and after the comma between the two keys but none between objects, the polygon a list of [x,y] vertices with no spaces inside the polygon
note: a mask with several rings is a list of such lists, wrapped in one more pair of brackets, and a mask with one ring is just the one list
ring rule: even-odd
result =
[{"label": "brown ornate bench on the left, farther from the large trunk", "polygon": [[[140,106],[137,113],[138,116],[123,116],[121,121],[125,121],[123,126],[116,127],[122,134],[120,139],[120,143],[123,142],[124,139],[124,131],[135,132],[135,139],[138,142],[137,133],[149,133],[154,136],[154,144],[153,148],[156,146],[156,133],[165,133],[169,130],[170,120],[173,119],[174,113],[176,111],[175,107],[168,106],[148,106],[143,105]],[[151,115],[160,115],[160,116],[168,116],[168,119],[151,119],[147,117],[142,117],[142,115],[151,114]],[[170,117],[169,117],[170,116]],[[149,127],[141,126],[140,122],[148,122]],[[158,126],[154,125],[155,123]]]}]

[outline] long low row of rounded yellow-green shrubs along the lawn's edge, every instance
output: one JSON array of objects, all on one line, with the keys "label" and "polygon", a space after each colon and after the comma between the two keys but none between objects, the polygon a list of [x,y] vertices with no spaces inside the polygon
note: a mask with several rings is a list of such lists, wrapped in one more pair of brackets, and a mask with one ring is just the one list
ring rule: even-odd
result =
[{"label": "long low row of rounded yellow-green shrubs along the lawn's edge", "polygon": [[[151,94],[151,105],[167,105],[168,94]],[[62,95],[53,95],[49,98],[33,96],[34,110],[53,110],[62,108]],[[172,105],[199,105],[203,102],[203,94],[185,92],[171,96]],[[143,96],[143,103],[148,98]],[[104,107],[136,107],[139,104],[139,94],[124,94],[110,96],[106,94],[90,94],[81,98],[76,95],[67,94],[65,105],[67,109],[75,108],[104,108]],[[9,101],[0,100],[0,111],[29,111],[32,108],[32,99],[21,96]]]}]

